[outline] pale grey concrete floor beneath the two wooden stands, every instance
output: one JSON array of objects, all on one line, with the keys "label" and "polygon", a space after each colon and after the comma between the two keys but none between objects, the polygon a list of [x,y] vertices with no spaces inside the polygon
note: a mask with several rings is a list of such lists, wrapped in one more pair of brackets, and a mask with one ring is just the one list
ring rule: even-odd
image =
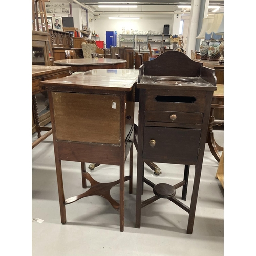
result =
[{"label": "pale grey concrete floor beneath the two wooden stands", "polygon": [[[135,107],[137,118],[138,105]],[[135,120],[135,123],[138,120]],[[49,124],[51,125],[51,124]],[[214,132],[220,146],[224,143],[224,130]],[[37,138],[32,134],[32,142]],[[87,170],[99,182],[119,179],[119,167],[100,165],[93,171]],[[129,172],[129,157],[125,175]],[[155,184],[176,184],[183,179],[184,166],[157,163],[162,170],[160,176],[145,165],[145,177]],[[215,178],[218,162],[206,144],[197,210],[192,235],[186,234],[188,214],[166,199],[144,207],[141,228],[135,228],[136,167],[137,151],[134,147],[133,194],[128,193],[125,182],[124,232],[119,231],[119,212],[104,198],[86,197],[66,205],[67,223],[60,222],[57,179],[55,172],[52,135],[32,150],[32,222],[33,256],[66,255],[224,255],[224,190]],[[65,198],[84,192],[81,187],[79,162],[62,161]],[[186,205],[190,205],[195,168],[190,167]],[[90,182],[88,182],[90,187]],[[176,196],[181,197],[181,188]],[[111,190],[119,200],[119,185]],[[151,187],[144,185],[145,200],[153,195]]]}]

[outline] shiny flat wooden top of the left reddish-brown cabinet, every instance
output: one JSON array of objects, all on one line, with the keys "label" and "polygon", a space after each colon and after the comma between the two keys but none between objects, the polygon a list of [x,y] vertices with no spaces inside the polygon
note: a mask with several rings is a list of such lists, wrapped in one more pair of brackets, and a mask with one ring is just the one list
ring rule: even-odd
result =
[{"label": "shiny flat wooden top of the left reddish-brown cabinet", "polygon": [[40,82],[47,87],[131,91],[137,82],[138,70],[96,69],[59,79]]}]

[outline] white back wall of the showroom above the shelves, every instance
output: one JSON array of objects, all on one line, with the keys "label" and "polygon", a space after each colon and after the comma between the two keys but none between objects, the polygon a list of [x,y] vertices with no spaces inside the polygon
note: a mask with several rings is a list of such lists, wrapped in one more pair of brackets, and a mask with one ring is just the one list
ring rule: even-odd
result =
[{"label": "white back wall of the showroom above the shelves", "polygon": [[[50,3],[69,3],[69,0],[50,0]],[[187,33],[189,26],[189,15],[184,16],[180,15],[178,19],[175,19],[176,14],[140,14],[139,20],[110,20],[107,16],[94,16],[92,12],[84,10],[79,4],[72,3],[72,17],[74,18],[74,27],[81,30],[84,25],[88,26],[91,31],[94,31],[99,34],[100,40],[106,43],[106,31],[117,31],[117,45],[119,46],[119,34],[122,34],[122,28],[124,27],[125,31],[138,30],[138,31],[163,31],[163,25],[170,25],[169,34],[179,34],[179,20],[184,19],[184,49],[187,42]],[[160,11],[161,8],[158,6],[140,6],[143,8],[143,11]],[[158,10],[159,9],[159,10]],[[173,6],[166,6],[166,11],[173,11]],[[62,15],[69,16],[69,15]],[[88,16],[88,19],[87,19]],[[110,15],[109,15],[110,16]],[[117,16],[117,15],[111,15]],[[138,16],[138,15],[130,15]],[[88,20],[88,24],[87,24]],[[179,35],[180,37],[182,35]]]}]

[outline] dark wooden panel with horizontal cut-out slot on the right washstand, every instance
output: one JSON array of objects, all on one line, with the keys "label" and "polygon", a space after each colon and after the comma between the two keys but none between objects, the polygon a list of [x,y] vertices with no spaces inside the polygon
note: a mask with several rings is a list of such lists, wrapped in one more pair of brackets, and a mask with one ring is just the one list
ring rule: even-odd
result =
[{"label": "dark wooden panel with horizontal cut-out slot on the right washstand", "polygon": [[145,109],[203,113],[205,100],[205,91],[147,90]]}]

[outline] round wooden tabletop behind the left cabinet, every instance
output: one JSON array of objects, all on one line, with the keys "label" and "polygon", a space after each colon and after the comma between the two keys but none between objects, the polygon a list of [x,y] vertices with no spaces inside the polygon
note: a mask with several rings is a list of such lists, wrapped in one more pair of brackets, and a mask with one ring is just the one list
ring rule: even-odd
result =
[{"label": "round wooden tabletop behind the left cabinet", "polygon": [[125,69],[124,59],[61,59],[53,62],[56,66],[71,66],[72,71],[88,71],[92,69]]}]

